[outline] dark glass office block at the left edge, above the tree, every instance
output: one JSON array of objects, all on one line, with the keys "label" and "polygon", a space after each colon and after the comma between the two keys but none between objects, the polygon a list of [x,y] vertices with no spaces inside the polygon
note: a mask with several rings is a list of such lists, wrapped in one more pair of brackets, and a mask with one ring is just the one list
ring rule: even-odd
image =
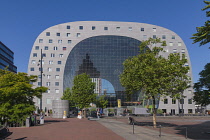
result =
[{"label": "dark glass office block at the left edge, above the tree", "polygon": [[17,72],[17,67],[14,65],[14,53],[0,41],[0,69],[5,68]]}]

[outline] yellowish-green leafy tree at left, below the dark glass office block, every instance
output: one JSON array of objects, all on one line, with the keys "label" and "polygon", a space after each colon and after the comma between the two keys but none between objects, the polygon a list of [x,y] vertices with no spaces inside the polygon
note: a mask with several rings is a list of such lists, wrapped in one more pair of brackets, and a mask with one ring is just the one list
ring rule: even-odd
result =
[{"label": "yellowish-green leafy tree at left, below the dark glass office block", "polygon": [[8,122],[21,123],[35,111],[34,96],[40,98],[46,87],[33,88],[37,76],[26,73],[13,73],[0,69],[0,118],[5,125]]}]

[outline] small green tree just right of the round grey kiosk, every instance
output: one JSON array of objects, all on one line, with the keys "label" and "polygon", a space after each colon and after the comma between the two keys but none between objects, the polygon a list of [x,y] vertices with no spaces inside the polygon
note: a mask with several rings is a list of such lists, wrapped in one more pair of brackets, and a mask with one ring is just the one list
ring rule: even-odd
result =
[{"label": "small green tree just right of the round grey kiosk", "polygon": [[61,97],[61,100],[69,100],[70,108],[76,107],[75,106],[75,101],[74,101],[73,96],[72,96],[72,91],[71,91],[70,88],[66,88],[66,90],[63,93],[63,96]]}]

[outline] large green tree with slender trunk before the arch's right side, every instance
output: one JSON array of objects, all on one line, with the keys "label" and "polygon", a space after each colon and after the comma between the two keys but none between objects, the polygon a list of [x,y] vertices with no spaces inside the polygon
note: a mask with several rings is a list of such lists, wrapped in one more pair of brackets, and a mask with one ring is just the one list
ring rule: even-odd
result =
[{"label": "large green tree with slender trunk before the arch's right side", "polygon": [[[153,125],[156,127],[156,98],[170,96],[181,98],[183,91],[188,88],[190,79],[186,74],[187,60],[179,53],[169,54],[168,58],[161,55],[163,49],[156,45],[165,46],[160,39],[148,39],[140,44],[140,53],[124,61],[124,70],[120,82],[128,94],[143,91],[146,98],[153,101]],[[151,50],[148,49],[152,48]]]}]

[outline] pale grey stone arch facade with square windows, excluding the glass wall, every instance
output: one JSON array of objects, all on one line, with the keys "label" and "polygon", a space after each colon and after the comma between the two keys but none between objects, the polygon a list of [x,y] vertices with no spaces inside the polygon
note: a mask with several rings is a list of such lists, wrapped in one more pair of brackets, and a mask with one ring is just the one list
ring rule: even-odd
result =
[{"label": "pale grey stone arch facade with square windows, excluding the glass wall", "polygon": [[[163,56],[168,56],[169,53],[184,53],[188,59],[189,67],[191,68],[190,57],[183,40],[173,31],[166,28],[133,22],[111,22],[111,21],[79,21],[58,24],[44,30],[35,40],[31,50],[28,74],[40,75],[38,64],[41,59],[41,49],[43,53],[43,86],[49,88],[48,93],[43,93],[43,109],[52,109],[52,100],[58,100],[63,94],[63,75],[66,60],[76,44],[80,41],[101,35],[115,35],[134,38],[142,41],[150,37],[157,37],[165,40],[167,46]],[[189,76],[192,77],[192,70],[189,71]],[[192,78],[191,78],[192,79]],[[40,82],[40,79],[39,81]],[[38,82],[34,86],[40,86]],[[192,99],[193,88],[184,91],[186,98],[184,99],[184,113],[188,113],[188,109],[195,111],[195,105],[188,104],[188,100]],[[36,105],[39,106],[39,100],[35,99]],[[175,109],[175,114],[178,113],[178,101],[172,104],[172,99],[168,98],[168,103],[162,101],[159,104],[160,109],[166,109],[166,112],[171,112]]]}]

